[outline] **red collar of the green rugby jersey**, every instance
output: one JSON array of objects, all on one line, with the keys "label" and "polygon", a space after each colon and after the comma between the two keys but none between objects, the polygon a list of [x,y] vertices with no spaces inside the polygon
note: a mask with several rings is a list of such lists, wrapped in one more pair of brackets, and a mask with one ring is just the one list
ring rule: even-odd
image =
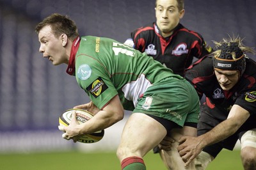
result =
[{"label": "red collar of the green rugby jersey", "polygon": [[80,44],[80,37],[77,36],[77,38],[74,40],[73,44],[72,44],[72,48],[70,51],[70,57],[69,57],[69,61],[68,61],[68,68],[66,70],[66,72],[69,75],[75,75],[75,60],[76,60],[76,52],[79,48],[79,44]]}]

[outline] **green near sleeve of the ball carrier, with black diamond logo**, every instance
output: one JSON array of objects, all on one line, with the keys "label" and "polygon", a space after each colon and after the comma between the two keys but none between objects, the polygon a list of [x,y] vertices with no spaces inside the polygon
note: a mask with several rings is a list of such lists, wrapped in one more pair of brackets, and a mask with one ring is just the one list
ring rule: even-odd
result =
[{"label": "green near sleeve of the ball carrier, with black diamond logo", "polygon": [[106,68],[95,58],[80,55],[76,59],[76,79],[99,109],[118,94]]}]

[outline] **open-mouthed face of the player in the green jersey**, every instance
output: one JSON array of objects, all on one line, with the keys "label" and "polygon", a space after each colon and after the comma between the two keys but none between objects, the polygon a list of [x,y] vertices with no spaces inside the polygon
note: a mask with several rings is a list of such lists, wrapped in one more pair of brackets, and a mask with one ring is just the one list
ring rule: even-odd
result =
[{"label": "open-mouthed face of the player in the green jersey", "polygon": [[39,31],[38,40],[40,42],[39,51],[43,53],[44,58],[52,61],[52,65],[68,64],[68,56],[62,45],[61,36],[56,38],[52,33],[51,26],[45,26]]}]

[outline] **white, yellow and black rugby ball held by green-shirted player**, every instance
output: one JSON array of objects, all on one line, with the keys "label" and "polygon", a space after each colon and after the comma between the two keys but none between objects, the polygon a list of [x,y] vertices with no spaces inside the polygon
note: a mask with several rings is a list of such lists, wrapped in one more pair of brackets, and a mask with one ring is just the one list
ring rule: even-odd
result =
[{"label": "white, yellow and black rugby ball held by green-shirted player", "polygon": [[[67,127],[72,119],[73,112],[76,112],[76,120],[79,124],[82,124],[86,121],[89,121],[93,114],[82,110],[82,109],[68,109],[67,111],[63,112],[59,118],[59,123],[61,126]],[[77,142],[80,143],[96,143],[100,141],[104,136],[104,130],[100,130],[98,132],[95,132],[93,134],[85,134],[81,136]]]}]

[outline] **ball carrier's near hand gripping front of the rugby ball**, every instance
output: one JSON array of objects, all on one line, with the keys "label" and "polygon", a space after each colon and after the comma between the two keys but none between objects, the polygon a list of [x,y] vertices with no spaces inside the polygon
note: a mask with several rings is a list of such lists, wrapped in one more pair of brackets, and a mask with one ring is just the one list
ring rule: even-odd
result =
[{"label": "ball carrier's near hand gripping front of the rugby ball", "polygon": [[74,143],[76,143],[80,137],[79,127],[77,127],[77,125],[79,125],[79,123],[76,120],[76,112],[73,112],[72,119],[68,127],[61,126],[61,125],[58,126],[59,130],[64,132],[64,134],[62,134],[63,139],[67,139],[67,140],[73,139]]}]

